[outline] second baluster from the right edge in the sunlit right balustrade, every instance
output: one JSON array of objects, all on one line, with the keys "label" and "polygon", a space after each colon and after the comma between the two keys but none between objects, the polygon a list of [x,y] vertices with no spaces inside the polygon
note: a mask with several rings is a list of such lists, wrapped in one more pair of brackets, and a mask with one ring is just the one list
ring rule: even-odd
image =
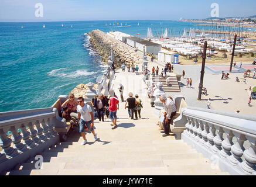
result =
[{"label": "second baluster from the right edge in the sunlit right balustrade", "polygon": [[231,146],[232,155],[229,157],[229,160],[230,163],[235,166],[243,161],[241,157],[244,154],[244,141],[246,140],[246,138],[244,134],[240,134],[234,131],[233,134],[235,138],[237,138],[237,142],[233,146]]}]

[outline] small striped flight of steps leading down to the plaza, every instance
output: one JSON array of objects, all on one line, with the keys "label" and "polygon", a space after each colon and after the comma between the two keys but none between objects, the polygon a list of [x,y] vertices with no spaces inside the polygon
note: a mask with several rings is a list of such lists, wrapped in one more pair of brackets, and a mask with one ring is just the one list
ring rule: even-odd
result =
[{"label": "small striped flight of steps leading down to the plaza", "polygon": [[[170,83],[167,85],[166,79],[170,78]],[[180,92],[179,82],[176,76],[167,76],[161,78],[161,76],[153,77],[153,82],[162,82],[163,83],[163,91],[165,92]]]}]

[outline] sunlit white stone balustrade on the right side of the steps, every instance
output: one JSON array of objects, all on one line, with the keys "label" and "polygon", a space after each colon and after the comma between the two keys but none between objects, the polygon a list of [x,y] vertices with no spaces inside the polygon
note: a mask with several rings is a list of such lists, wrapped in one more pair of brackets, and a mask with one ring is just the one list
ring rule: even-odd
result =
[{"label": "sunlit white stone balustrade on the right side of the steps", "polygon": [[[256,117],[187,107],[182,139],[231,175],[256,175]],[[179,122],[179,123],[180,123]]]}]

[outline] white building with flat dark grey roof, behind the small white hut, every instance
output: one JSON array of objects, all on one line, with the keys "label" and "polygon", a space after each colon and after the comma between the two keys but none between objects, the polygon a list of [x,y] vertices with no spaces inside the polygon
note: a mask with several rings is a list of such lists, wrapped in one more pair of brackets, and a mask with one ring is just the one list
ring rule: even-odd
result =
[{"label": "white building with flat dark grey roof, behind the small white hut", "polygon": [[136,48],[140,51],[143,51],[145,45],[145,52],[149,54],[158,54],[158,51],[161,50],[161,45],[158,43],[153,43],[148,40],[136,41]]}]

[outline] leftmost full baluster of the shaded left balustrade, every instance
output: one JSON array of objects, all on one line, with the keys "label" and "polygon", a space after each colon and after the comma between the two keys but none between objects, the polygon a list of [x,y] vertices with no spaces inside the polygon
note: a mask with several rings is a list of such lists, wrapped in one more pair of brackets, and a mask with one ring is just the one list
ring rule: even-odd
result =
[{"label": "leftmost full baluster of the shaded left balustrade", "polygon": [[6,136],[6,131],[0,129],[1,147],[4,153],[9,157],[15,157],[18,154],[16,148],[11,147],[12,139]]}]

